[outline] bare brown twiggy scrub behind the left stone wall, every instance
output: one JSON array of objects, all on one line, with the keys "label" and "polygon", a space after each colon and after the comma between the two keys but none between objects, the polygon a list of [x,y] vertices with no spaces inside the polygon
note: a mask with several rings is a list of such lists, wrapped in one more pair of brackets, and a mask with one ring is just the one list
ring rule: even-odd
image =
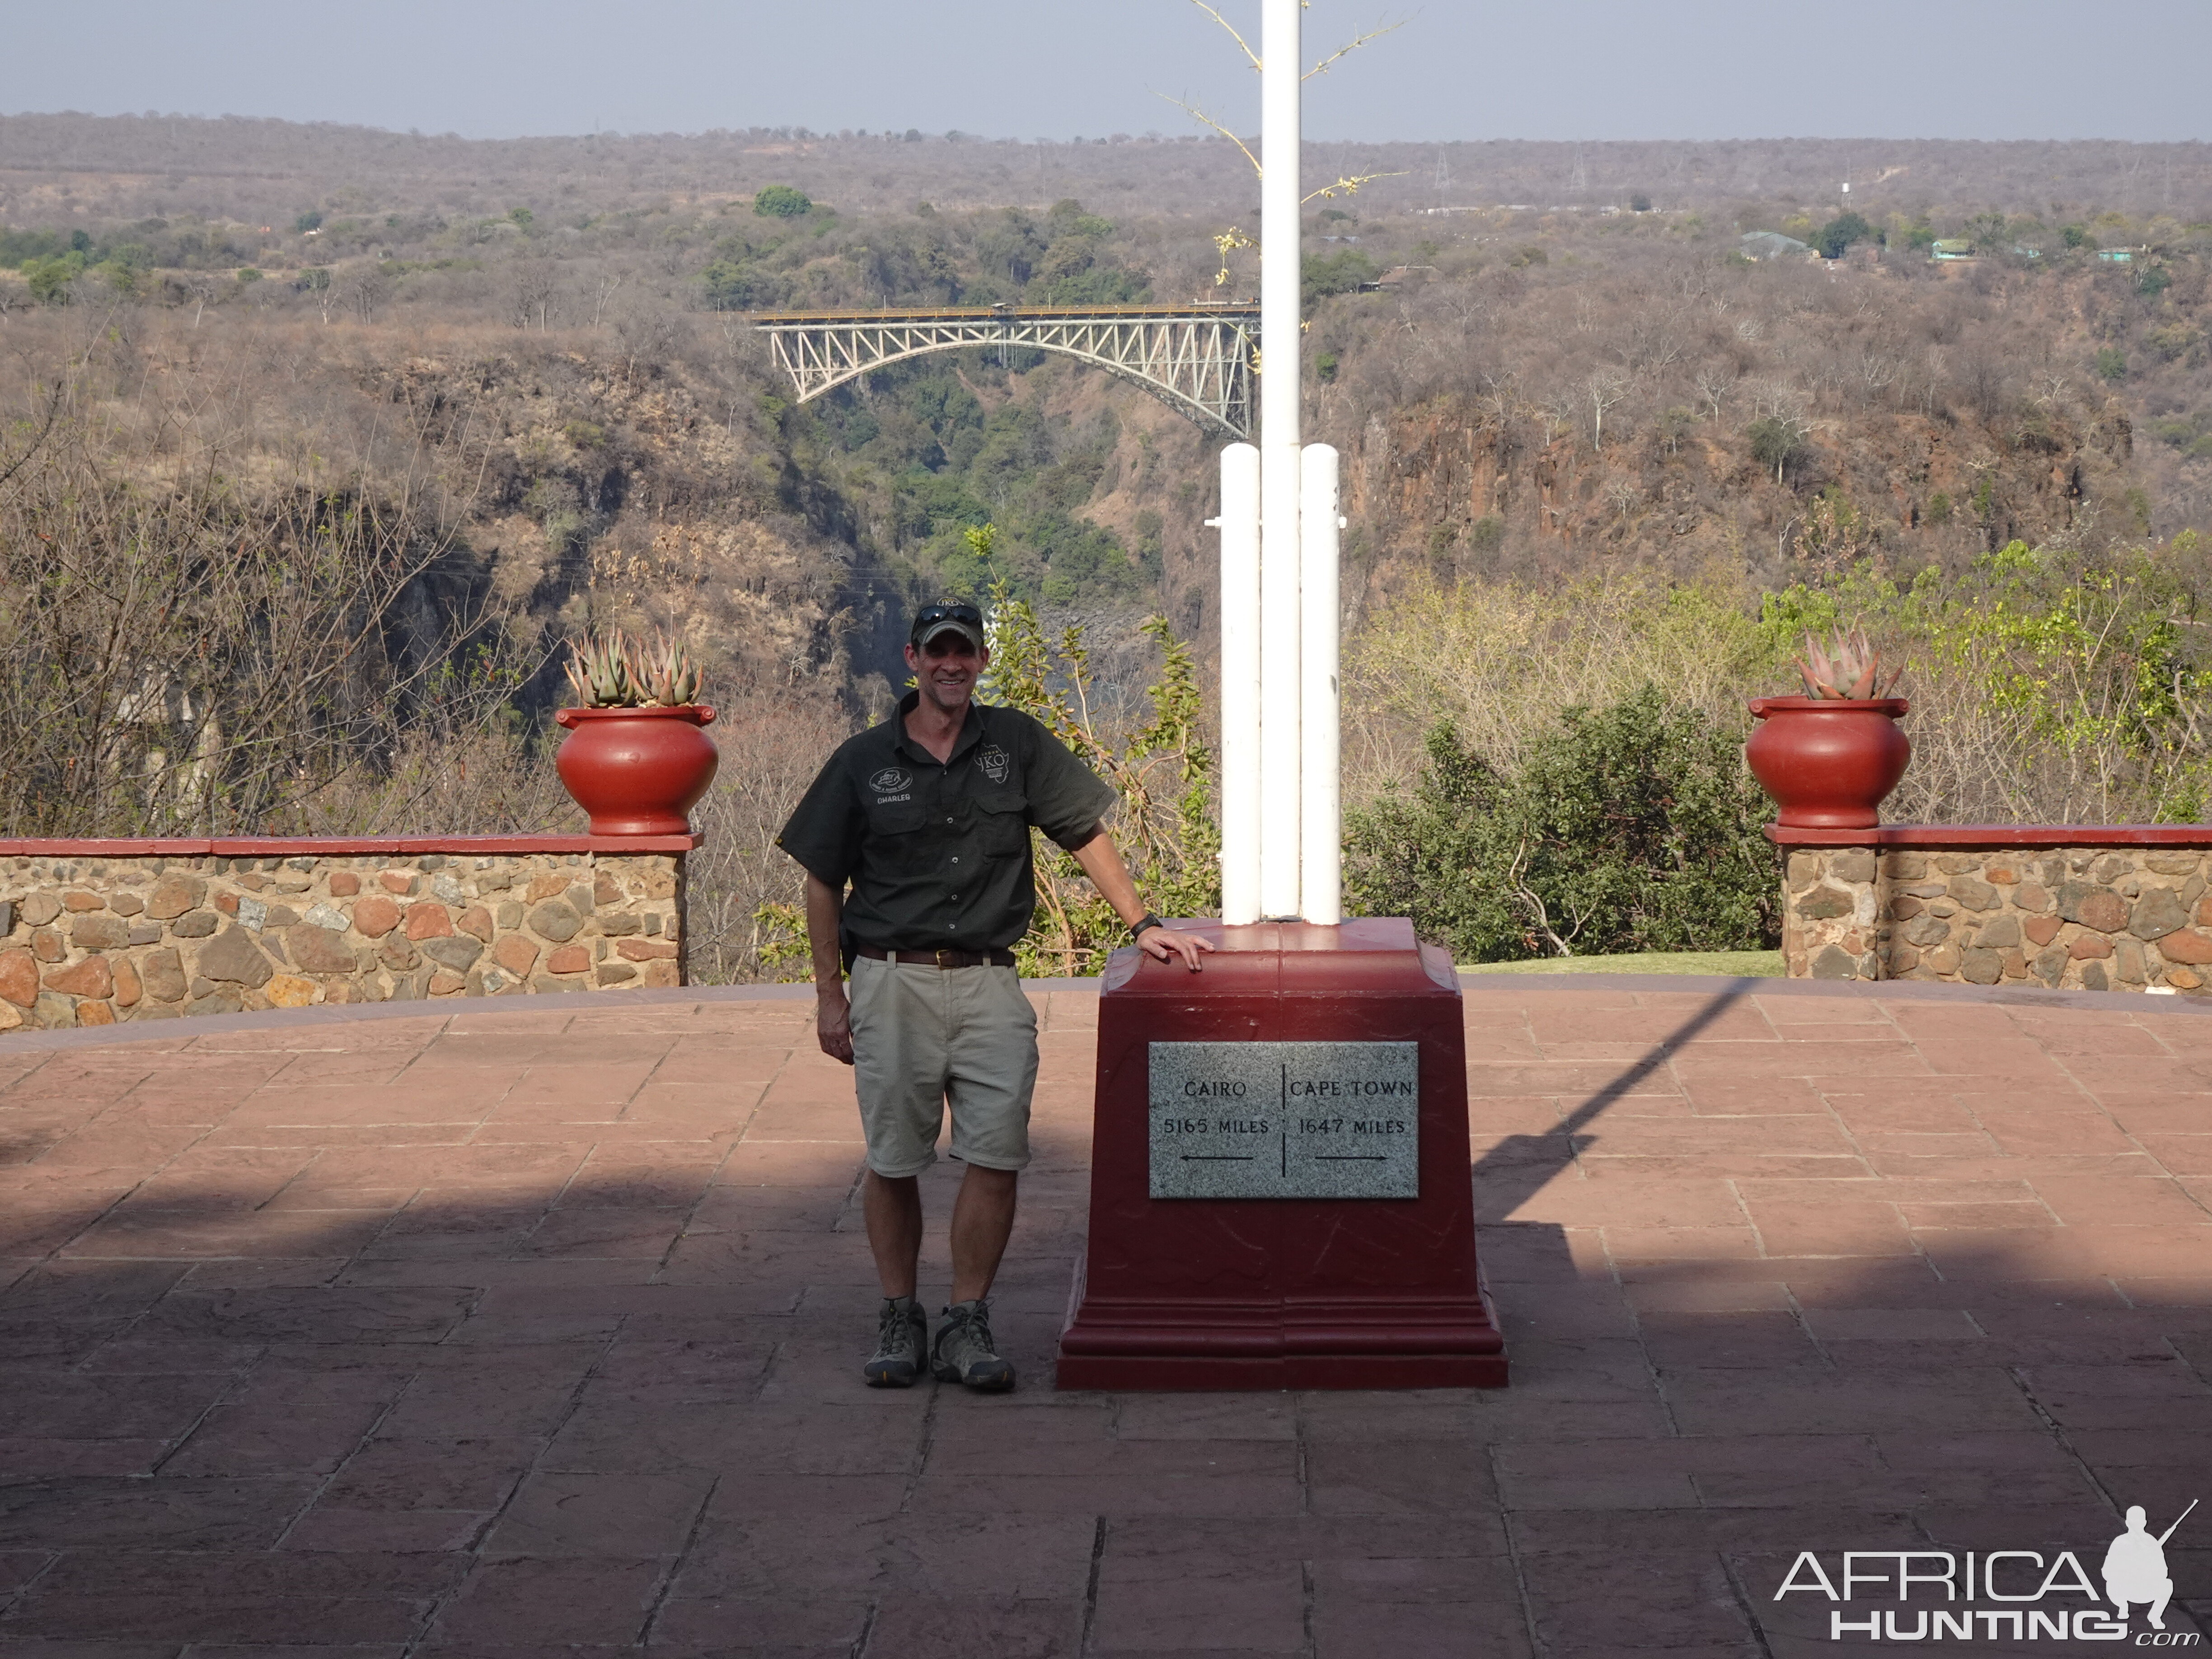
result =
[{"label": "bare brown twiggy scrub behind the left stone wall", "polygon": [[460,456],[272,453],[219,367],[161,374],[71,356],[0,431],[0,834],[540,827]]}]

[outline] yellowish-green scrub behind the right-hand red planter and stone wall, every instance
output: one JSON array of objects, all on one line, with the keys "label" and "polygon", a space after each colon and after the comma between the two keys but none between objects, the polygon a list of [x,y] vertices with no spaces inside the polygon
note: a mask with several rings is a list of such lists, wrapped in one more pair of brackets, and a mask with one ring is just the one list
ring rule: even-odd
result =
[{"label": "yellowish-green scrub behind the right-hand red planter and stone wall", "polygon": [[1913,761],[1885,816],[1905,823],[2199,821],[2212,805],[2208,571],[2166,549],[2011,544],[1958,575],[1898,584],[1860,566],[1754,595],[1723,580],[1416,584],[1345,648],[1345,799],[1402,794],[1425,737],[1515,774],[1568,708],[1644,686],[1747,732],[1743,703],[1801,690],[1807,630],[1865,626],[1905,664]]}]

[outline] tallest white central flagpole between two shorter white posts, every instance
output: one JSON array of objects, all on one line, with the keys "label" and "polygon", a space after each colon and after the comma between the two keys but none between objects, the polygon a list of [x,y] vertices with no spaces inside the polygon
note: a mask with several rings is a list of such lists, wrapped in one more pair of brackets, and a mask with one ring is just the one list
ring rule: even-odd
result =
[{"label": "tallest white central flagpole between two shorter white posts", "polygon": [[1263,0],[1259,186],[1263,916],[1298,914],[1298,46],[1301,0]]}]

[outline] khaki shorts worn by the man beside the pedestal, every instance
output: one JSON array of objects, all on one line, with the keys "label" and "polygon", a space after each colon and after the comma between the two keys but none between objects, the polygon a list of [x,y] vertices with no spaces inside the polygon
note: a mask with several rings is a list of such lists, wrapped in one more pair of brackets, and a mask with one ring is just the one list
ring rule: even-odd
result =
[{"label": "khaki shorts worn by the man beside the pedestal", "polygon": [[956,1159],[987,1170],[1029,1164],[1037,1011],[1020,973],[858,956],[849,995],[867,1168],[900,1179],[936,1164],[947,1099]]}]

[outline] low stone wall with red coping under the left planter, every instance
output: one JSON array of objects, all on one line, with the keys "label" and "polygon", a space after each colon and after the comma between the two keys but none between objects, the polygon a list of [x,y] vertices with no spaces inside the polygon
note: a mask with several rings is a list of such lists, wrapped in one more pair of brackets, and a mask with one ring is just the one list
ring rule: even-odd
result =
[{"label": "low stone wall with red coping under the left planter", "polygon": [[690,836],[122,845],[0,843],[0,1031],[686,978]]}]

